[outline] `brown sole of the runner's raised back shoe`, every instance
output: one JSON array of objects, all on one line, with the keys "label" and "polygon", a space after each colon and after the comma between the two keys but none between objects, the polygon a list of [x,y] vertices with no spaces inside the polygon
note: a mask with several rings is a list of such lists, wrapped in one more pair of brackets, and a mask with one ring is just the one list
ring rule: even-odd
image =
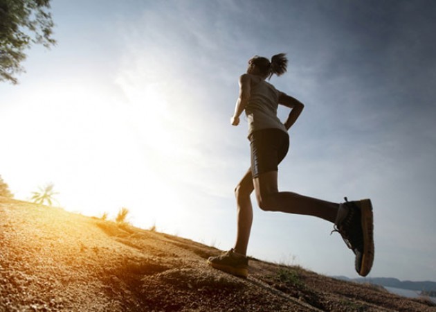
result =
[{"label": "brown sole of the runner's raised back shoe", "polygon": [[374,262],[374,220],[372,216],[372,203],[369,199],[360,201],[361,223],[363,229],[363,257],[359,275],[368,275]]}]

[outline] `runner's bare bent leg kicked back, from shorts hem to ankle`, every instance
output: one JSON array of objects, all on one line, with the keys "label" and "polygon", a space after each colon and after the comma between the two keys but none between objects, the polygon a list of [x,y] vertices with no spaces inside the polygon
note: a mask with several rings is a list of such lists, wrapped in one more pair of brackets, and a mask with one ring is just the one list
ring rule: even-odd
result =
[{"label": "runner's bare bent leg kicked back, from shorts hem to ankle", "polygon": [[339,204],[278,191],[278,171],[262,173],[253,179],[253,184],[257,203],[263,210],[317,216],[331,223],[336,220]]}]

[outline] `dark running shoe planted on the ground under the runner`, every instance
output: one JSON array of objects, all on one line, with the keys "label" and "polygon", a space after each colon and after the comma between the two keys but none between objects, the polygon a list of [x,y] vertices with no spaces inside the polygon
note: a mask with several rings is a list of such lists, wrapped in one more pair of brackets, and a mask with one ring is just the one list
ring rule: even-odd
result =
[{"label": "dark running shoe planted on the ground under the runner", "polygon": [[231,275],[244,278],[248,276],[248,258],[242,254],[237,254],[233,249],[223,252],[217,257],[210,257],[208,264],[212,268],[228,272]]}]

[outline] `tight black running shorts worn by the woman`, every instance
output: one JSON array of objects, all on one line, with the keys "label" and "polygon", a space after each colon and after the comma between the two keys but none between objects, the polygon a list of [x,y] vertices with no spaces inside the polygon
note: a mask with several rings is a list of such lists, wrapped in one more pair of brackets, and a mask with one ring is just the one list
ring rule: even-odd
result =
[{"label": "tight black running shorts worn by the woman", "polygon": [[289,135],[280,129],[257,130],[250,136],[250,147],[253,177],[278,171],[278,164],[289,150]]}]

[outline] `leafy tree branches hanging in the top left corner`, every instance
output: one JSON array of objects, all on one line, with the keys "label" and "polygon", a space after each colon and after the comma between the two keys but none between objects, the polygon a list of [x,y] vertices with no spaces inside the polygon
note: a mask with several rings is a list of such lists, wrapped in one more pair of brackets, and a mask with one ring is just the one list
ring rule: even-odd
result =
[{"label": "leafy tree branches hanging in the top left corner", "polygon": [[56,43],[49,8],[50,0],[0,0],[0,81],[17,83],[24,50],[32,44],[48,48]]}]

